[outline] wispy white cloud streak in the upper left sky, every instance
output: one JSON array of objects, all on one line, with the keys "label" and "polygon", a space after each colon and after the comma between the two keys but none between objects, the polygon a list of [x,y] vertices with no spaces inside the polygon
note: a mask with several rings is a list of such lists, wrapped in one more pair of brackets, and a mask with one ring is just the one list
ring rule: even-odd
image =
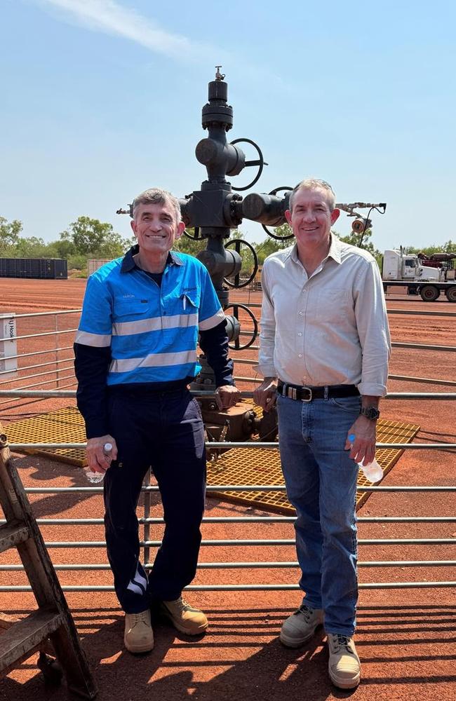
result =
[{"label": "wispy white cloud streak in the upper left sky", "polygon": [[115,0],[36,0],[41,6],[62,11],[64,16],[94,32],[123,36],[149,50],[181,60],[207,60],[220,52],[190,41],[185,36],[171,34],[156,22],[140,15]]}]

